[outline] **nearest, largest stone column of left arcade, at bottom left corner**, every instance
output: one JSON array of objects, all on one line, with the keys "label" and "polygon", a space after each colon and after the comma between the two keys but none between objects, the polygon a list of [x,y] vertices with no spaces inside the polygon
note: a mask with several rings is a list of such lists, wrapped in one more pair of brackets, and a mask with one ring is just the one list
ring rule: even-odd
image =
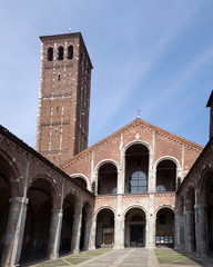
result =
[{"label": "nearest, largest stone column of left arcade, at bottom left corner", "polygon": [[6,231],[1,266],[17,266],[20,260],[28,198],[10,198],[10,210]]}]

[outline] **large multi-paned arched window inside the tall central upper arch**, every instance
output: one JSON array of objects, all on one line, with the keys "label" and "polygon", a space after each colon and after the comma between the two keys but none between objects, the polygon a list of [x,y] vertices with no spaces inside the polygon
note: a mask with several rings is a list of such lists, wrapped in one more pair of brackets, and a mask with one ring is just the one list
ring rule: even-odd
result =
[{"label": "large multi-paned arched window inside the tall central upper arch", "polygon": [[146,192],[148,191],[148,177],[141,170],[134,171],[130,177],[130,192]]}]

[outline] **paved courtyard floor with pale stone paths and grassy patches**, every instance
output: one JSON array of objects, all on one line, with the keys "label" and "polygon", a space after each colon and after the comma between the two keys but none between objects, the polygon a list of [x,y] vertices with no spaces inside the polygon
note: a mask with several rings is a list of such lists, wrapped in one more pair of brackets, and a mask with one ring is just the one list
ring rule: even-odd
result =
[{"label": "paved courtyard floor with pale stone paths and grassy patches", "polygon": [[189,257],[168,248],[125,248],[125,249],[97,249],[75,255],[69,255],[55,260],[44,260],[40,264],[26,264],[21,267],[212,267],[213,260],[209,258]]}]

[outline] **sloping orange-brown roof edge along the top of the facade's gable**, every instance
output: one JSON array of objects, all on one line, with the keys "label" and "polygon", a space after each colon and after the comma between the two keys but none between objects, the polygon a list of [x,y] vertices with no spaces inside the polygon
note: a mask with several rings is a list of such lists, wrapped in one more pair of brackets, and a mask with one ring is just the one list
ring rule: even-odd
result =
[{"label": "sloping orange-brown roof edge along the top of the facade's gable", "polygon": [[85,150],[83,150],[82,152],[78,154],[77,156],[72,157],[71,159],[65,160],[63,164],[61,164],[59,166],[59,168],[65,168],[68,165],[70,165],[72,161],[85,156],[87,154],[90,154],[92,150],[94,150],[95,148],[100,147],[101,145],[108,142],[109,140],[113,139],[115,136],[120,135],[121,132],[124,132],[125,130],[128,130],[129,128],[133,127],[133,126],[143,126],[146,128],[150,128],[152,131],[159,132],[160,135],[163,136],[168,136],[169,138],[176,140],[179,142],[182,142],[183,145],[191,147],[193,149],[197,149],[197,150],[203,150],[203,146],[197,145],[195,142],[189,141],[182,137],[179,137],[174,134],[171,134],[166,130],[163,130],[156,126],[153,126],[144,120],[142,120],[141,118],[136,118],[135,120],[133,120],[132,122],[130,122],[129,125],[122,127],[121,129],[119,129],[118,131],[113,132],[112,135],[105,137],[104,139],[100,140],[99,142],[94,144],[93,146],[87,148]]}]

